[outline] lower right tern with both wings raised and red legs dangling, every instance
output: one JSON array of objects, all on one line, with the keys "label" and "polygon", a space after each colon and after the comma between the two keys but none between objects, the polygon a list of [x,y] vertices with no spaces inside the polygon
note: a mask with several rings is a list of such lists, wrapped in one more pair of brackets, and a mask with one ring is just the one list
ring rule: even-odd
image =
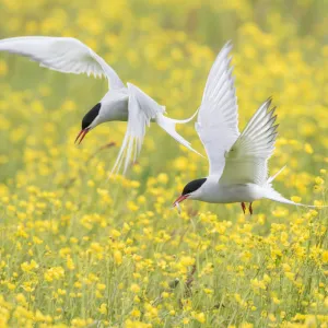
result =
[{"label": "lower right tern with both wings raised and red legs dangling", "polygon": [[209,160],[209,176],[188,183],[175,200],[185,199],[210,203],[246,202],[267,198],[274,201],[304,206],[291,201],[273,189],[272,181],[282,171],[268,177],[268,160],[277,138],[277,115],[266,101],[254,114],[244,131],[238,130],[238,106],[232,77],[229,42],[218,55],[207,80],[196,130]]}]

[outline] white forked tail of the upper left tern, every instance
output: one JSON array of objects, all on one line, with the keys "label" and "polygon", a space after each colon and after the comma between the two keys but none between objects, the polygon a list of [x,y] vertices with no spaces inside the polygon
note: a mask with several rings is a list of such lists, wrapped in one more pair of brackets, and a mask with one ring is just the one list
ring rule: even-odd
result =
[{"label": "white forked tail of the upper left tern", "polygon": [[[187,149],[191,150],[192,152],[197,153],[198,155],[201,155],[198,151],[196,151],[191,145],[190,142],[187,141],[184,137],[181,137],[175,129],[176,125],[184,125],[190,121],[196,115],[198,110],[187,119],[173,119],[167,116],[164,116],[162,114],[157,114],[156,116],[156,124],[165,130],[171,137],[173,137],[176,141],[185,145]],[[201,155],[202,156],[202,155]]]}]

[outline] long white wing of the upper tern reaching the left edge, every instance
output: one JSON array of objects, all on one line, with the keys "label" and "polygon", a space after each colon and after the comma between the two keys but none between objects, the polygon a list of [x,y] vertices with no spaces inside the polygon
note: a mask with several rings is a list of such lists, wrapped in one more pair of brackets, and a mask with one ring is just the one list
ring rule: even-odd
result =
[{"label": "long white wing of the upper tern reaching the left edge", "polygon": [[28,57],[62,73],[105,75],[112,89],[125,87],[105,60],[73,37],[22,36],[0,40],[0,51]]}]

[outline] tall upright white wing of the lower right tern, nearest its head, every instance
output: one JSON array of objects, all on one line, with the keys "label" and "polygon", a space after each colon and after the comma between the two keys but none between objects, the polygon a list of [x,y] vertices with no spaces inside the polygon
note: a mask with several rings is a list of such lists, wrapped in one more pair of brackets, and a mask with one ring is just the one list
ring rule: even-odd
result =
[{"label": "tall upright white wing of the lower right tern, nearest its head", "polygon": [[227,43],[211,68],[196,122],[196,130],[209,157],[209,175],[221,176],[224,154],[239,136],[237,97],[229,57],[232,45]]}]

